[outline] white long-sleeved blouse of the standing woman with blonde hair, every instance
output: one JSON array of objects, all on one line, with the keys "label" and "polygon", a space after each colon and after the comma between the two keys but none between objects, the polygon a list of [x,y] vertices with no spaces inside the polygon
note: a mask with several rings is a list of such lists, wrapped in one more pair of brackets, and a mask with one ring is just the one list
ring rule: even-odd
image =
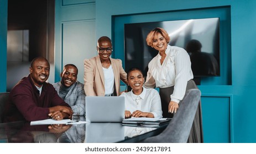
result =
[{"label": "white long-sleeved blouse of the standing woman with blonde hair", "polygon": [[190,57],[183,48],[170,45],[167,46],[165,53],[166,58],[162,65],[159,53],[149,62],[144,87],[174,86],[171,101],[179,103],[185,95],[187,81],[193,79]]}]

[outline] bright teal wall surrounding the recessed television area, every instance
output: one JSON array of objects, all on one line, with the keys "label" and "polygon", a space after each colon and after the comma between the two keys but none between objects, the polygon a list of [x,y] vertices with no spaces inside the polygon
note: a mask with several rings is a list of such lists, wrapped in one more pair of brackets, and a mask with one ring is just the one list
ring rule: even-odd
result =
[{"label": "bright teal wall surrounding the recessed television area", "polygon": [[[222,69],[227,76],[219,81],[205,78],[202,91],[203,126],[206,142],[256,142],[256,1],[135,1],[96,0],[96,38],[106,35],[115,40],[115,19],[124,15],[230,8],[228,39],[221,52]],[[187,14],[191,16],[191,14]],[[196,15],[196,14],[194,14]],[[202,11],[200,16],[205,15]],[[144,20],[149,20],[143,18]],[[127,19],[129,20],[134,19]],[[118,32],[118,31],[117,31]],[[123,34],[121,34],[123,35]],[[223,34],[222,34],[223,35]],[[223,43],[226,40],[222,40]],[[122,46],[122,45],[121,45]],[[230,52],[229,52],[230,51]],[[225,53],[229,52],[229,53]],[[114,58],[124,61],[124,51],[118,48]],[[226,63],[226,60],[229,61]],[[226,63],[226,64],[225,64]],[[222,78],[222,76],[220,77]],[[225,81],[224,81],[225,80]]]}]

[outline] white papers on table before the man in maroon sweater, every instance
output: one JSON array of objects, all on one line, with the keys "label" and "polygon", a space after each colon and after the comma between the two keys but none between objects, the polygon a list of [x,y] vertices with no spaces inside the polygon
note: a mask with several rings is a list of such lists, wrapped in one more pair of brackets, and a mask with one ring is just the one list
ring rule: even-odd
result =
[{"label": "white papers on table before the man in maroon sweater", "polygon": [[88,123],[85,121],[76,121],[70,119],[63,119],[63,120],[54,120],[54,119],[45,119],[45,120],[37,120],[30,122],[30,125],[51,125],[51,124],[84,124]]}]

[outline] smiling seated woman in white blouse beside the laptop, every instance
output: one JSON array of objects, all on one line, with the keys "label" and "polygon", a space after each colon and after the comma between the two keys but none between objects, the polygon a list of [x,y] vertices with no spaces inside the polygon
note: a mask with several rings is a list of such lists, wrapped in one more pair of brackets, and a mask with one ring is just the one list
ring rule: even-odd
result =
[{"label": "smiling seated woman in white blouse beside the laptop", "polygon": [[127,83],[132,91],[120,95],[125,97],[125,117],[162,118],[160,95],[155,89],[143,88],[144,78],[140,69],[128,71]]}]

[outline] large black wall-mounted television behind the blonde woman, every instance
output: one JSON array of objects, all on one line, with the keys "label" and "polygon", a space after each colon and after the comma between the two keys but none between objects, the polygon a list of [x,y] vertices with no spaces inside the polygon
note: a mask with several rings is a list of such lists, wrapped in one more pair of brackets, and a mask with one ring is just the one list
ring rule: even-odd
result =
[{"label": "large black wall-mounted television behind the blonde woman", "polygon": [[146,42],[155,27],[168,32],[169,45],[189,53],[194,76],[220,76],[220,18],[124,24],[126,70],[138,67],[147,75],[148,63],[158,54]]}]

